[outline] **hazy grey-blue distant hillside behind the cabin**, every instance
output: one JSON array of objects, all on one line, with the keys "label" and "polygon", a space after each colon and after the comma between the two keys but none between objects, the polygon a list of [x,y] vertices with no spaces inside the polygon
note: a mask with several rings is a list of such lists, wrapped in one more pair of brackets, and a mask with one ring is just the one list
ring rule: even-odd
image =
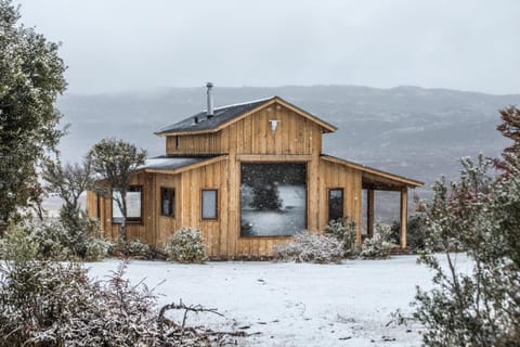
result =
[{"label": "hazy grey-blue distant hillside behind the cabin", "polygon": [[[214,89],[216,106],[280,95],[334,124],[324,152],[426,182],[453,177],[461,156],[497,155],[508,143],[495,130],[498,110],[520,105],[520,94],[490,95],[445,89],[354,86]],[[78,160],[92,144],[117,137],[164,153],[153,132],[206,108],[205,88],[171,88],[98,95],[66,94],[62,154]]]}]

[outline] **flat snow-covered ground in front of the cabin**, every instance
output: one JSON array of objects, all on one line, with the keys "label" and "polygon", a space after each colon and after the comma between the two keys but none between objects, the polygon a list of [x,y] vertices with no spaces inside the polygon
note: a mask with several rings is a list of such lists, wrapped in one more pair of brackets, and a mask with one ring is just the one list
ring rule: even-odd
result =
[{"label": "flat snow-covered ground in front of the cabin", "polygon": [[[459,266],[469,266],[459,256]],[[118,260],[88,264],[104,279]],[[431,272],[415,256],[389,260],[348,260],[342,265],[208,262],[179,265],[131,261],[127,278],[156,288],[159,305],[182,301],[217,308],[205,314],[220,330],[248,334],[244,346],[419,346],[421,329],[391,321],[398,308],[411,313],[415,286],[431,286]]]}]

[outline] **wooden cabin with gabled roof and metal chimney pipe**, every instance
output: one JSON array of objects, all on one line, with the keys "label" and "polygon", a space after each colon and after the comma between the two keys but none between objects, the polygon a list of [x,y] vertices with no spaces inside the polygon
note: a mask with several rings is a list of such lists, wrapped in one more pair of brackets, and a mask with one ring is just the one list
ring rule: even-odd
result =
[{"label": "wooden cabin with gabled roof and metal chimney pipe", "polygon": [[[406,247],[407,190],[416,180],[322,153],[330,124],[273,97],[212,107],[156,132],[166,154],[133,175],[127,234],[164,245],[183,227],[203,233],[213,258],[269,257],[273,245],[303,229],[322,232],[330,219],[356,222],[362,240],[362,191],[368,235],[374,191],[400,192],[401,246]],[[117,239],[120,211],[88,192],[88,211],[103,236]]]}]

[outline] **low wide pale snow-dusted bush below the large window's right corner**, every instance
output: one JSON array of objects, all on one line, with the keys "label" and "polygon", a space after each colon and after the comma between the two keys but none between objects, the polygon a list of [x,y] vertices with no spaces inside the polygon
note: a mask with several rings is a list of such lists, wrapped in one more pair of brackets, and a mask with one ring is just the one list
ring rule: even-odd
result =
[{"label": "low wide pale snow-dusted bush below the large window's right corner", "polygon": [[276,260],[296,262],[339,262],[343,257],[343,243],[336,237],[302,231],[292,241],[278,244],[273,249]]}]

